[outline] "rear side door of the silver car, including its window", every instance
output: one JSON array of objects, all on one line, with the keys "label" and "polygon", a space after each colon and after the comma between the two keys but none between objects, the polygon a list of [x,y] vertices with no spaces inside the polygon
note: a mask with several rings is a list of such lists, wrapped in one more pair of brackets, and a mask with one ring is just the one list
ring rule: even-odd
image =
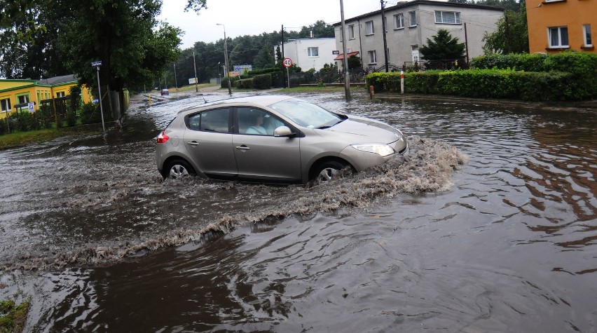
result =
[{"label": "rear side door of the silver car, including its window", "polygon": [[233,177],[238,173],[232,146],[231,111],[230,108],[212,109],[186,118],[186,150],[207,176]]}]

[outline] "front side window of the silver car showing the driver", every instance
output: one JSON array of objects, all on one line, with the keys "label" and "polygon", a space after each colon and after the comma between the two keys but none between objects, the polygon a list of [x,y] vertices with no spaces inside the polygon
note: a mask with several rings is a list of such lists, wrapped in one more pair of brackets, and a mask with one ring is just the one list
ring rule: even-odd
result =
[{"label": "front side window of the silver car showing the driver", "polygon": [[273,136],[276,128],[284,126],[280,118],[261,109],[239,107],[237,114],[239,134]]}]

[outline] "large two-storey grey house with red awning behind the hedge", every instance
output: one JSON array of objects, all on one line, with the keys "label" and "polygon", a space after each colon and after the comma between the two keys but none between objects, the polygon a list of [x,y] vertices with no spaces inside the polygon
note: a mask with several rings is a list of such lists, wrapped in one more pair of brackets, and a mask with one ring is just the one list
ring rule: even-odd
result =
[{"label": "large two-storey grey house with red awning behind the hedge", "polygon": [[[387,62],[402,67],[420,60],[418,48],[446,29],[460,43],[466,43],[469,59],[483,55],[484,34],[495,32],[504,8],[430,0],[399,2],[384,8]],[[381,9],[345,20],[347,53],[359,53],[363,67],[385,67]],[[336,49],[342,50],[342,25],[334,24]],[[342,58],[342,55],[338,57]],[[338,67],[341,62],[338,62]]]}]

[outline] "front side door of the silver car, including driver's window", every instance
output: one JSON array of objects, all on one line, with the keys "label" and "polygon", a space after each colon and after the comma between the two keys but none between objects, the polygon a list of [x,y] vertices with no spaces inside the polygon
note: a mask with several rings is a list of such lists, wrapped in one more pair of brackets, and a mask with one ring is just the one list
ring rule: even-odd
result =
[{"label": "front side door of the silver car, including driver's window", "polygon": [[275,128],[288,124],[262,109],[239,107],[235,114],[238,133],[233,136],[233,147],[239,177],[301,181],[300,137],[273,136]]}]

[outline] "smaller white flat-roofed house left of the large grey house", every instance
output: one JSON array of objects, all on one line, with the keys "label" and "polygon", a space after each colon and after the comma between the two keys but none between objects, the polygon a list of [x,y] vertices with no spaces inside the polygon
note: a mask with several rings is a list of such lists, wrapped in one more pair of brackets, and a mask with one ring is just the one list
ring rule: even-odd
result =
[{"label": "smaller white flat-roofed house left of the large grey house", "polygon": [[[277,48],[281,50],[282,46],[274,46],[276,63],[282,61],[277,59]],[[284,57],[289,57],[303,72],[312,68],[319,71],[324,64],[334,63],[334,50],[337,48],[333,38],[291,39],[284,43]]]}]

